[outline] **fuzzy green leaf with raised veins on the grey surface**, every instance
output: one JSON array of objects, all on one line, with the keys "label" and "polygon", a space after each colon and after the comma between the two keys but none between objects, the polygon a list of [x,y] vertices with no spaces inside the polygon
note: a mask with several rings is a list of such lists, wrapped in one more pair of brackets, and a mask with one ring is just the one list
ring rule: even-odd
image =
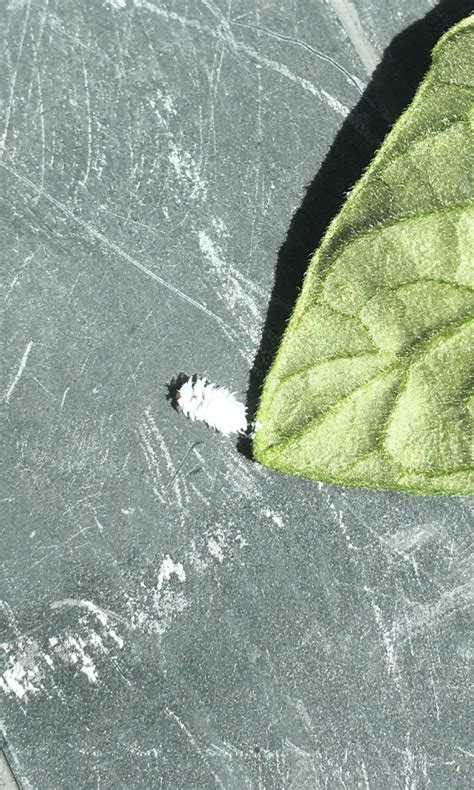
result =
[{"label": "fuzzy green leaf with raised veins on the grey surface", "polygon": [[343,485],[474,493],[474,17],[314,254],[254,456]]}]

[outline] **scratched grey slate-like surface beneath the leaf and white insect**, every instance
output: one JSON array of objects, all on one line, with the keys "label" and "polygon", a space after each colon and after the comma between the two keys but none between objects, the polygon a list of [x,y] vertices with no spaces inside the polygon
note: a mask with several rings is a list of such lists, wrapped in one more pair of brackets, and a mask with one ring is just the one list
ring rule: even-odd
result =
[{"label": "scratched grey slate-like surface beneath the leaf and white insect", "polygon": [[306,186],[325,224],[461,6],[0,0],[20,787],[471,786],[472,502],[287,478],[166,400],[245,398]]}]

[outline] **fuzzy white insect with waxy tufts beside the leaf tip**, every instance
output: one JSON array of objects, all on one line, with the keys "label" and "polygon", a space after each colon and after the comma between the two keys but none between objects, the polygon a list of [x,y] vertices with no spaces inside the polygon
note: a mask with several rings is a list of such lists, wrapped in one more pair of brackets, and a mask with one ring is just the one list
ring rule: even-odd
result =
[{"label": "fuzzy white insect with waxy tufts beside the leaf tip", "polygon": [[176,403],[190,420],[205,422],[224,436],[247,433],[247,410],[227,387],[194,375],[177,389]]}]

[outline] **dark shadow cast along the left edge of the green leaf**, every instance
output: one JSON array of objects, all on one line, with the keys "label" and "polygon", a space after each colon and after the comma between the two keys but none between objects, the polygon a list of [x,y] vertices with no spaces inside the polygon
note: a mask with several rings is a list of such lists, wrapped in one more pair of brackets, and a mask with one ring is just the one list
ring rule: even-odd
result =
[{"label": "dark shadow cast along the left edge of the green leaf", "polygon": [[[359,180],[387,132],[413,99],[430,66],[434,45],[444,32],[471,12],[471,0],[442,0],[423,19],[393,39],[308,187],[278,254],[262,340],[250,371],[249,422],[255,419],[263,381],[293,311],[311,255],[344,203],[347,192]],[[241,439],[238,449],[252,457],[249,439]]]}]

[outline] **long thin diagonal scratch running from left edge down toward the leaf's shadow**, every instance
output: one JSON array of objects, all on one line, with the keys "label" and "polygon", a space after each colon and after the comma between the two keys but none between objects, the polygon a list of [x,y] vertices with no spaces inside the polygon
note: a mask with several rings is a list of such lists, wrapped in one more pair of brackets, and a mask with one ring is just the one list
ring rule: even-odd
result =
[{"label": "long thin diagonal scratch running from left edge down toward the leaf's shadow", "polygon": [[166,288],[168,291],[171,291],[171,293],[174,293],[183,301],[195,307],[196,310],[200,310],[202,313],[207,315],[208,318],[211,318],[216,324],[218,324],[223,334],[227,338],[229,338],[229,340],[235,341],[235,334],[232,332],[231,328],[225,323],[225,321],[223,321],[222,318],[220,318],[218,315],[213,313],[212,310],[209,310],[209,308],[205,307],[205,305],[196,301],[191,296],[188,296],[188,294],[184,293],[184,291],[181,291],[175,285],[172,285],[163,277],[160,277],[158,274],[156,274],[156,272],[153,272],[143,263],[137,261],[136,258],[133,258],[131,255],[128,254],[128,252],[122,250],[122,248],[119,247],[118,244],[115,244],[115,242],[108,239],[99,230],[94,228],[92,225],[90,225],[88,222],[81,219],[80,217],[77,217],[70,209],[67,208],[67,206],[64,205],[64,203],[61,203],[61,201],[57,200],[55,197],[50,195],[48,192],[46,192],[46,190],[41,191],[40,188],[35,183],[33,183],[33,181],[31,181],[27,176],[18,173],[13,167],[11,167],[10,165],[6,165],[5,162],[3,161],[0,161],[0,166],[3,167],[7,172],[14,175],[16,178],[18,178],[19,181],[22,181],[24,184],[27,184],[30,187],[30,189],[33,189],[37,194],[41,194],[53,206],[59,209],[59,211],[62,211],[64,214],[66,214],[67,217],[72,219],[73,222],[75,222],[81,228],[84,228],[84,230],[86,230],[87,233],[89,233],[94,239],[97,239],[97,241],[100,241],[102,244],[104,244],[105,247],[108,247],[110,250],[113,250],[113,252],[115,252],[116,255],[118,255],[120,258],[130,263],[132,266],[134,266],[136,269],[141,271],[151,280],[154,280],[155,282],[159,283],[164,288]]}]

